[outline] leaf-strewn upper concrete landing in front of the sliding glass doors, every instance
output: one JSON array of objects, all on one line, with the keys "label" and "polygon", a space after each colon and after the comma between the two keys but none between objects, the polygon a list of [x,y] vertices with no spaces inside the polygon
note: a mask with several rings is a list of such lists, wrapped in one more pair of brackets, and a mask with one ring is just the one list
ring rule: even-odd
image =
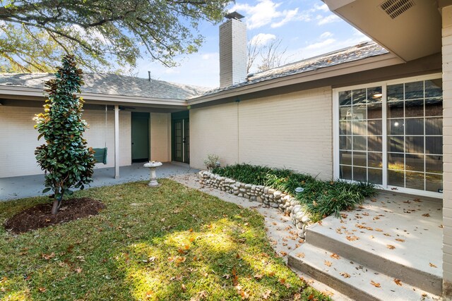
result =
[{"label": "leaf-strewn upper concrete landing in front of the sliding glass doors", "polygon": [[442,278],[441,199],[380,192],[343,219],[329,216],[311,231]]}]

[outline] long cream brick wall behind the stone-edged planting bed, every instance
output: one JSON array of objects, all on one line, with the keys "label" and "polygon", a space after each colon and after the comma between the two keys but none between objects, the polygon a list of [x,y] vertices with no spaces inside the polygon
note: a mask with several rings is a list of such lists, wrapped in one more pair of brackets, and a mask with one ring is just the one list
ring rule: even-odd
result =
[{"label": "long cream brick wall behind the stone-edged planting bed", "polygon": [[331,179],[331,95],[331,88],[324,87],[192,109],[191,166],[204,168],[203,159],[213,153],[223,165],[285,167]]}]

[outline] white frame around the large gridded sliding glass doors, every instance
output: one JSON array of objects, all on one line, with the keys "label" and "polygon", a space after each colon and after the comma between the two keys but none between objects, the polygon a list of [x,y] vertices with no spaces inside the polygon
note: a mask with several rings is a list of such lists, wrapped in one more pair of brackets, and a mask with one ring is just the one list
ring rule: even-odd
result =
[{"label": "white frame around the large gridded sliding glass doors", "polygon": [[[420,75],[420,76],[413,76],[410,78],[398,78],[396,80],[386,80],[386,81],[380,81],[380,82],[369,82],[367,84],[363,85],[352,85],[347,87],[338,87],[334,88],[332,90],[333,93],[333,178],[337,180],[343,180],[348,183],[356,183],[354,180],[344,180],[340,179],[340,164],[339,164],[339,92],[345,91],[345,90],[355,90],[355,89],[364,89],[369,87],[376,87],[381,86],[382,89],[382,108],[381,108],[381,126],[382,126],[382,164],[383,164],[383,178],[382,178],[382,184],[377,185],[379,189],[381,190],[388,190],[388,191],[396,191],[401,193],[407,193],[411,195],[420,195],[424,197],[435,197],[442,199],[443,194],[439,192],[431,192],[427,190],[416,190],[411,188],[400,188],[396,186],[388,185],[388,128],[387,128],[387,86],[388,85],[397,85],[407,82],[416,82],[421,80],[432,80],[436,78],[442,78],[442,73],[432,73],[428,75]],[[424,172],[425,173],[425,172]],[[444,173],[444,172],[443,172]],[[425,186],[425,180],[424,180],[424,186]]]}]

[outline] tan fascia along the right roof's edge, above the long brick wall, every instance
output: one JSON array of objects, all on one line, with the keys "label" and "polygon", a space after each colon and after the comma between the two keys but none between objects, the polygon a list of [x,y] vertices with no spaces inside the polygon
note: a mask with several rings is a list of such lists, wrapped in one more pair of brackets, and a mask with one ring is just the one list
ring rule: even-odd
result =
[{"label": "tan fascia along the right roof's edge, above the long brick wall", "polygon": [[401,60],[400,58],[398,58],[398,56],[394,54],[391,53],[381,54],[379,56],[372,56],[367,59],[361,59],[349,63],[341,63],[336,66],[319,68],[317,70],[311,70],[304,73],[287,75],[281,78],[274,78],[273,80],[264,80],[262,82],[256,82],[251,85],[244,85],[242,87],[237,87],[231,90],[220,91],[215,94],[208,94],[201,97],[195,97],[189,99],[188,104],[189,105],[203,104],[218,99],[239,97],[240,95],[243,94],[261,92],[263,90],[285,87],[289,85],[296,85],[302,82],[323,80],[326,78],[333,78],[335,76],[347,75],[350,73],[356,73],[364,70],[393,66],[400,63],[403,63],[403,60]]}]

